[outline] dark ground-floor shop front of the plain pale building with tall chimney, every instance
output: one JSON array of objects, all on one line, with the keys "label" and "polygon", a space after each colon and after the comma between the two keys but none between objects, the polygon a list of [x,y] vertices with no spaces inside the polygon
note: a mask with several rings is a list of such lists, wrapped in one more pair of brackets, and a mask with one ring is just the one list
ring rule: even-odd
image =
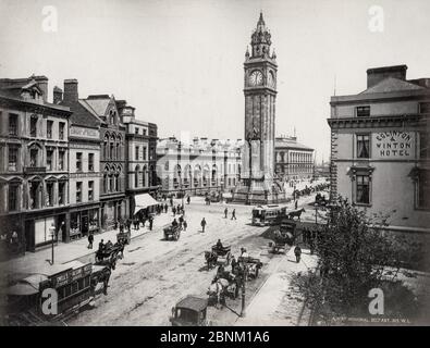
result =
[{"label": "dark ground-floor shop front of the plain pale building with tall chimney", "polygon": [[70,240],[82,238],[88,234],[99,233],[99,211],[100,206],[98,203],[72,208],[70,211]]}]

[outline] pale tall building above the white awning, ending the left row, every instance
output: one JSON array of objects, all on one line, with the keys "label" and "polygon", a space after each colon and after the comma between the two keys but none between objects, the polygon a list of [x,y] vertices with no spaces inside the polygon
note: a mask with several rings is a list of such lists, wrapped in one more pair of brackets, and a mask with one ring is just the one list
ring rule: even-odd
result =
[{"label": "pale tall building above the white awning, ending the left row", "polygon": [[135,108],[125,100],[118,100],[116,107],[125,125],[126,199],[130,215],[135,201],[147,195],[156,197],[160,186],[157,179],[157,125],[136,120]]}]

